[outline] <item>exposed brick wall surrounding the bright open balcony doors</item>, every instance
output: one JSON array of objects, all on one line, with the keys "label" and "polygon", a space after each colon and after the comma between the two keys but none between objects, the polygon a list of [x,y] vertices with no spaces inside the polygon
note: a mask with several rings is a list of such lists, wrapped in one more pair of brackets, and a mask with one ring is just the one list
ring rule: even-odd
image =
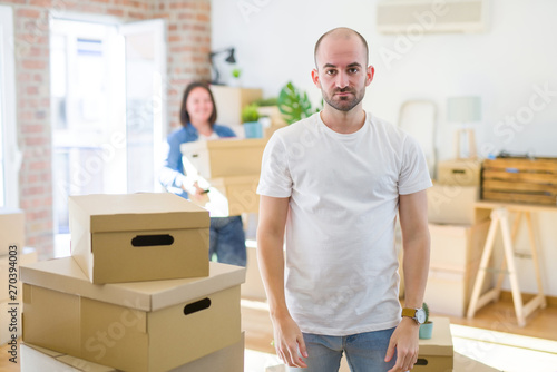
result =
[{"label": "exposed brick wall surrounding the bright open balcony doors", "polygon": [[[180,96],[192,79],[208,79],[211,0],[0,0],[14,13],[20,206],[28,246],[53,253],[49,12],[109,14],[121,21],[167,19],[168,118],[178,125]],[[168,130],[170,127],[168,128]]]}]

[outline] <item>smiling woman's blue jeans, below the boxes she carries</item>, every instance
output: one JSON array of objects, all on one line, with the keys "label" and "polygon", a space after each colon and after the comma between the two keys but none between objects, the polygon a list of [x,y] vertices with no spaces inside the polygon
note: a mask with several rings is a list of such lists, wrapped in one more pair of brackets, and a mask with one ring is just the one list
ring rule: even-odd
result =
[{"label": "smiling woman's blue jeans, below the boxes she carries", "polygon": [[245,266],[245,234],[241,216],[211,218],[209,260],[216,253],[224,264]]}]

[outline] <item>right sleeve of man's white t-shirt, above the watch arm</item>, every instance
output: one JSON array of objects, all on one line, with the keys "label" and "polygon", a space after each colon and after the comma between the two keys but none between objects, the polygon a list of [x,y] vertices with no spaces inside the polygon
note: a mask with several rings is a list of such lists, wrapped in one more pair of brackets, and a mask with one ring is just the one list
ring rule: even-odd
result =
[{"label": "right sleeve of man's white t-shirt, above the watch arm", "polygon": [[399,176],[399,194],[408,195],[418,193],[432,185],[426,156],[420,145],[413,137],[407,136]]}]

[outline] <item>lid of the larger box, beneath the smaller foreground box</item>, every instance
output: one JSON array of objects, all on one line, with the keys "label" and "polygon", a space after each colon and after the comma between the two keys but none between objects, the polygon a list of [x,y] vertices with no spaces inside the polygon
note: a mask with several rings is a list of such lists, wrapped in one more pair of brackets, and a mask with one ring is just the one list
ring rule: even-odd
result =
[{"label": "lid of the larger box, beneath the smaller foreground box", "polygon": [[245,281],[245,268],[209,263],[209,276],[118,284],[92,284],[72,257],[21,266],[21,282],[141,311],[196,300]]}]

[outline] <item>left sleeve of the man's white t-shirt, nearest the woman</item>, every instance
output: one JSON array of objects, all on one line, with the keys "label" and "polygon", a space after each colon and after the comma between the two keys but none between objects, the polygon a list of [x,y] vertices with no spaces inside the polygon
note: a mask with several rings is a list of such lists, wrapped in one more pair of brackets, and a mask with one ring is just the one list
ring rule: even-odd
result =
[{"label": "left sleeve of the man's white t-shirt, nearest the woman", "polygon": [[290,197],[292,195],[292,177],[289,170],[286,148],[280,136],[273,134],[261,164],[257,194],[272,197]]}]

